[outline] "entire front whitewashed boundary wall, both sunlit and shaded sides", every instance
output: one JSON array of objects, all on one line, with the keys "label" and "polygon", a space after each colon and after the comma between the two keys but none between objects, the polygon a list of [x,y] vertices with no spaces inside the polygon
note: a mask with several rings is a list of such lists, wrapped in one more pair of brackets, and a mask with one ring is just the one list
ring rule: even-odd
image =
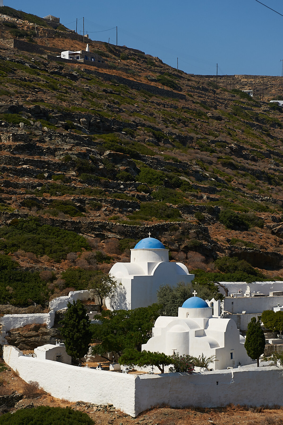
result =
[{"label": "entire front whitewashed boundary wall, both sunlit and shaded sides", "polygon": [[54,397],[96,404],[112,403],[131,416],[153,405],[218,407],[283,405],[283,370],[277,366],[207,371],[187,375],[129,375],[78,368],[26,357],[4,346],[5,362],[25,381],[37,381]]}]

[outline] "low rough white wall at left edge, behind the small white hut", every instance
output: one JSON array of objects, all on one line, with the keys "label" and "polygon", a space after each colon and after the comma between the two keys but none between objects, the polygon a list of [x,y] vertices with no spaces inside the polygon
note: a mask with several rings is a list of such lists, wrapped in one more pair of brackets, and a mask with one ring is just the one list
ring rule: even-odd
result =
[{"label": "low rough white wall at left edge, behind the small white hut", "polygon": [[51,310],[49,313],[32,314],[5,314],[0,317],[0,345],[4,345],[6,332],[11,329],[22,328],[26,325],[46,324],[48,329],[54,325],[55,313]]}]

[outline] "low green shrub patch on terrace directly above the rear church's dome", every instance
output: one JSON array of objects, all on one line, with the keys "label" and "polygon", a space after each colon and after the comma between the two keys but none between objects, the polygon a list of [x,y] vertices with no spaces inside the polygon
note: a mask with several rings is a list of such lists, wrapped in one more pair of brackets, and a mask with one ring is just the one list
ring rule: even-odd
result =
[{"label": "low green shrub patch on terrace directly above the rear church's dome", "polygon": [[141,209],[133,212],[129,218],[135,218],[140,220],[151,220],[153,217],[158,220],[178,219],[180,218],[181,212],[176,208],[169,207],[165,202],[142,202]]}]

